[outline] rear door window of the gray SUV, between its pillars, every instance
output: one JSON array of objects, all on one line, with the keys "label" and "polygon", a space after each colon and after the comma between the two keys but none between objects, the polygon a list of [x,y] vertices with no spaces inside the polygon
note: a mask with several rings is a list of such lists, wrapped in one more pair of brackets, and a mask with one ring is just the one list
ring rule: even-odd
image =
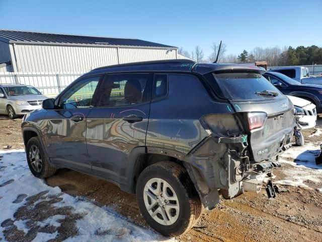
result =
[{"label": "rear door window of the gray SUV, between its pillars", "polygon": [[130,106],[142,102],[148,74],[108,75],[100,97],[101,107]]}]

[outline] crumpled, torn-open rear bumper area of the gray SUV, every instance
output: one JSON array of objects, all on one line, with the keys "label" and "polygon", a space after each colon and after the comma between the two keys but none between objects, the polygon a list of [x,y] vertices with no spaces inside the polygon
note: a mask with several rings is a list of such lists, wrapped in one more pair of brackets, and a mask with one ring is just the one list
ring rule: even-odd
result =
[{"label": "crumpled, torn-open rear bumper area of the gray SUV", "polygon": [[245,191],[259,193],[264,178],[277,162],[280,152],[290,147],[288,135],[284,146],[274,159],[264,162],[251,162],[247,135],[216,138],[213,134],[206,137],[186,156],[186,166],[204,206],[213,209],[219,203],[219,193],[231,199]]}]

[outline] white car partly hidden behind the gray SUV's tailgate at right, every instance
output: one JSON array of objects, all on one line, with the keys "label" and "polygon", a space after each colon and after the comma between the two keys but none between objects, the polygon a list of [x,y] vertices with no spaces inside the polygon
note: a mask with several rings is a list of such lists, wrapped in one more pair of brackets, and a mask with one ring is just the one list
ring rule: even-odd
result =
[{"label": "white car partly hidden behind the gray SUV's tailgate at right", "polygon": [[294,105],[294,117],[300,130],[310,129],[316,125],[316,108],[313,103],[303,98],[289,96]]}]

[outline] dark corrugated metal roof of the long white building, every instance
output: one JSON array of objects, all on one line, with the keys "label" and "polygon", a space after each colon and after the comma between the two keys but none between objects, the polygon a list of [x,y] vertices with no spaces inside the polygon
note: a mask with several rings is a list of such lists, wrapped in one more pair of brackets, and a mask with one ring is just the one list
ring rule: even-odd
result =
[{"label": "dark corrugated metal roof of the long white building", "polygon": [[59,45],[96,45],[96,46],[140,46],[156,48],[177,48],[175,46],[149,42],[140,39],[95,37],[39,33],[28,31],[0,30],[0,39],[9,43],[59,44]]}]

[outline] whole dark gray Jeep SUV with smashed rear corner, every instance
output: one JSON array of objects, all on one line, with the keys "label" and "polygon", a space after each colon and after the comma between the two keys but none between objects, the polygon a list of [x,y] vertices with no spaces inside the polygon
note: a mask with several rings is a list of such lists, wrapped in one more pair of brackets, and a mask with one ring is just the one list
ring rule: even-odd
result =
[{"label": "whole dark gray Jeep SUV with smashed rear corner", "polygon": [[[262,75],[234,64],[167,60],[95,69],[23,118],[39,178],[68,167],[136,193],[156,231],[194,226],[266,173],[291,146],[293,104]],[[274,197],[272,182],[267,186]]]}]

